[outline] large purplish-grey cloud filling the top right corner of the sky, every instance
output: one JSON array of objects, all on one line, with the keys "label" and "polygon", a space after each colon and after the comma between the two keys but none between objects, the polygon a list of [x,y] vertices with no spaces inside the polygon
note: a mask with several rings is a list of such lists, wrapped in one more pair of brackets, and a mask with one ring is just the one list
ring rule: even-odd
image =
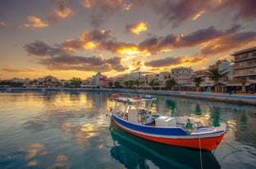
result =
[{"label": "large purplish-grey cloud filling the top right corner of the sky", "polygon": [[239,18],[243,20],[254,20],[256,16],[254,0],[159,0],[158,2],[150,3],[150,5],[156,14],[161,16],[161,22],[172,24],[173,27],[177,27],[185,21],[196,20],[200,16],[213,14],[222,10],[235,11],[234,20]]}]

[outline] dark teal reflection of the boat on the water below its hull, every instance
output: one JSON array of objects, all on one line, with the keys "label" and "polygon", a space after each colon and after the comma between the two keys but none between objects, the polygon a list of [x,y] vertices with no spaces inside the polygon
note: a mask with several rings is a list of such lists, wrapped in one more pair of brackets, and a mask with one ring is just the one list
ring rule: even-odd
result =
[{"label": "dark teal reflection of the boat on the water below its hull", "polygon": [[114,141],[112,158],[128,169],[151,168],[152,165],[158,168],[220,168],[213,153],[202,151],[200,157],[198,150],[144,140],[122,131],[114,122],[111,122],[110,131]]}]

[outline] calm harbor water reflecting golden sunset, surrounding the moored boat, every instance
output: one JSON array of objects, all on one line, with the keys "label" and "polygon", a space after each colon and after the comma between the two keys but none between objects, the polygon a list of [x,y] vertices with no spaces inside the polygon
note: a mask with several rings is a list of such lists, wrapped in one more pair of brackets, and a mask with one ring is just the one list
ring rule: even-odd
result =
[{"label": "calm harbor water reflecting golden sunset, surrounding the moored boat", "polygon": [[156,96],[153,109],[226,122],[213,152],[159,145],[121,131],[108,92],[0,92],[0,168],[256,168],[256,107]]}]

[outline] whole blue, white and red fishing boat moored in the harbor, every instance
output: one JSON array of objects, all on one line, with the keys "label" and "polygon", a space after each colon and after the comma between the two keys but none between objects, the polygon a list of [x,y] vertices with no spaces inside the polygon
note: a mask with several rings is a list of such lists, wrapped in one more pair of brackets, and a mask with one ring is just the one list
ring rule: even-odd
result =
[{"label": "whole blue, white and red fishing boat moored in the harbor", "polygon": [[[146,140],[166,145],[212,151],[226,133],[226,123],[219,127],[203,126],[194,118],[170,117],[150,111],[155,98],[113,94],[110,117],[122,130]],[[120,106],[120,104],[122,106]]]}]

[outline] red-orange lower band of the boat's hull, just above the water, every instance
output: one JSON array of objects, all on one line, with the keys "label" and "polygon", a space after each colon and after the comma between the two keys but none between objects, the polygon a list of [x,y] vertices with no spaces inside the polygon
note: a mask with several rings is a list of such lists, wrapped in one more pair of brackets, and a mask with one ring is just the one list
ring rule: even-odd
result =
[{"label": "red-orange lower band of the boat's hull, just above the water", "polygon": [[222,138],[224,136],[224,133],[221,134],[221,136],[218,137],[211,137],[211,138],[200,138],[200,139],[164,139],[164,138],[158,138],[158,137],[152,137],[152,136],[144,136],[138,133],[135,133],[133,131],[126,130],[126,128],[121,127],[117,124],[118,127],[120,127],[122,130],[129,132],[132,135],[139,136],[141,138],[144,138],[146,140],[152,140],[158,143],[166,144],[166,145],[176,145],[180,147],[186,147],[191,149],[203,149],[207,151],[212,151],[213,149],[217,148],[217,145],[221,143]]}]

